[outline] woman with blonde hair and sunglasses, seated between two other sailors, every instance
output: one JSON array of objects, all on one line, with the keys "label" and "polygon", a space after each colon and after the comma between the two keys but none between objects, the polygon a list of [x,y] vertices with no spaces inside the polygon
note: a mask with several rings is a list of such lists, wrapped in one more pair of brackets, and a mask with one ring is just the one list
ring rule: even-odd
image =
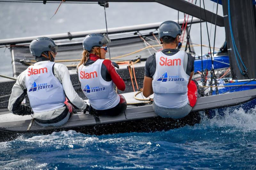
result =
[{"label": "woman with blonde hair and sunglasses, seated between two other sailors", "polygon": [[117,116],[127,107],[126,100],[114,90],[125,90],[124,80],[114,65],[106,60],[110,39],[106,34],[92,33],[83,40],[82,60],[77,66],[79,81],[84,95],[89,99],[90,113],[96,116]]}]

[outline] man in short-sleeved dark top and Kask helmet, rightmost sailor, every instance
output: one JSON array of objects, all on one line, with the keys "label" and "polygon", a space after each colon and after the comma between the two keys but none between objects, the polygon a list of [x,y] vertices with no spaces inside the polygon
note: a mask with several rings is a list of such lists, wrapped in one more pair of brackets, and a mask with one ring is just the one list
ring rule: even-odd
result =
[{"label": "man in short-sleeved dark top and Kask helmet, rightmost sailor", "polygon": [[156,114],[175,119],[188,115],[197,100],[196,83],[190,81],[194,57],[176,49],[181,33],[180,25],[174,21],[159,26],[163,50],[148,57],[143,82],[143,95],[154,93],[152,106]]}]

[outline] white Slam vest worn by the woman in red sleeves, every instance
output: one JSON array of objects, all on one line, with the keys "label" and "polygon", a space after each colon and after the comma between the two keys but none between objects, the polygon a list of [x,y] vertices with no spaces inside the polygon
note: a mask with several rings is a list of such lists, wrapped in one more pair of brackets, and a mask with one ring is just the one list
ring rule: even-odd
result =
[{"label": "white Slam vest worn by the woman in red sleeves", "polygon": [[113,81],[105,81],[101,77],[101,65],[104,60],[98,59],[89,66],[78,67],[78,77],[81,89],[89,99],[90,105],[96,110],[106,110],[115,107],[120,97],[114,91]]}]

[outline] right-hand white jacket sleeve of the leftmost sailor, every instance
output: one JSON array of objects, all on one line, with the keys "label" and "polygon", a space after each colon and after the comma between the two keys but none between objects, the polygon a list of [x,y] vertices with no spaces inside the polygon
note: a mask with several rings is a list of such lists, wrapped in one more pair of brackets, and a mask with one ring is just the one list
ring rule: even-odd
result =
[{"label": "right-hand white jacket sleeve of the leftmost sailor", "polygon": [[87,104],[84,102],[82,98],[78,96],[75,89],[73,88],[73,85],[70,80],[68,68],[63,64],[55,63],[54,72],[55,71],[56,71],[55,77],[60,80],[60,83],[62,83],[64,92],[69,102],[78,109],[86,109]]}]

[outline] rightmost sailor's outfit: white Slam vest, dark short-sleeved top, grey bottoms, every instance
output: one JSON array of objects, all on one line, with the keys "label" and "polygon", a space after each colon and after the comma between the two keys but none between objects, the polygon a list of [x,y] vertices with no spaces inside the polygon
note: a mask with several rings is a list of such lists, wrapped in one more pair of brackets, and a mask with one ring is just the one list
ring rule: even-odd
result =
[{"label": "rightmost sailor's outfit: white Slam vest, dark short-sleeved top, grey bottoms", "polygon": [[153,109],[162,117],[181,118],[196,104],[197,87],[188,80],[194,57],[177,49],[164,49],[148,57],[145,76],[153,78]]}]

